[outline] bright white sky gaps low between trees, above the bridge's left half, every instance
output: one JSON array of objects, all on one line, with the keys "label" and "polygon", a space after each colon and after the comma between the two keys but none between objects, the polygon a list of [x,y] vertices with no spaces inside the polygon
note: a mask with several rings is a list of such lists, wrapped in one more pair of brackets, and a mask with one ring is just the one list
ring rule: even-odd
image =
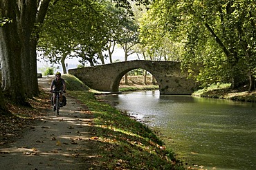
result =
[{"label": "bright white sky gaps low between trees, above the bridge's left half", "polygon": [[[113,56],[112,56],[112,60],[113,61],[116,61],[117,59],[119,59],[120,61],[125,61],[125,52],[123,52],[122,48],[116,48],[113,52]],[[138,60],[138,56],[136,54],[131,54],[130,56],[128,56],[128,61],[131,61],[131,60]],[[99,63],[101,63],[99,61]],[[105,63],[110,63],[109,62],[109,59],[105,60]],[[77,65],[79,65],[79,59],[77,58],[73,58],[73,59],[66,59],[65,60],[65,64],[68,65],[67,67],[67,70],[68,69],[73,69],[73,68],[77,68]],[[37,72],[38,73],[43,73],[45,71],[45,68],[46,67],[55,67],[57,68],[57,70],[55,70],[55,72],[61,72],[63,73],[63,70],[62,70],[62,65],[60,64],[50,64],[50,62],[45,62],[43,60],[39,60],[37,61]],[[89,64],[88,64],[89,66]]]}]

